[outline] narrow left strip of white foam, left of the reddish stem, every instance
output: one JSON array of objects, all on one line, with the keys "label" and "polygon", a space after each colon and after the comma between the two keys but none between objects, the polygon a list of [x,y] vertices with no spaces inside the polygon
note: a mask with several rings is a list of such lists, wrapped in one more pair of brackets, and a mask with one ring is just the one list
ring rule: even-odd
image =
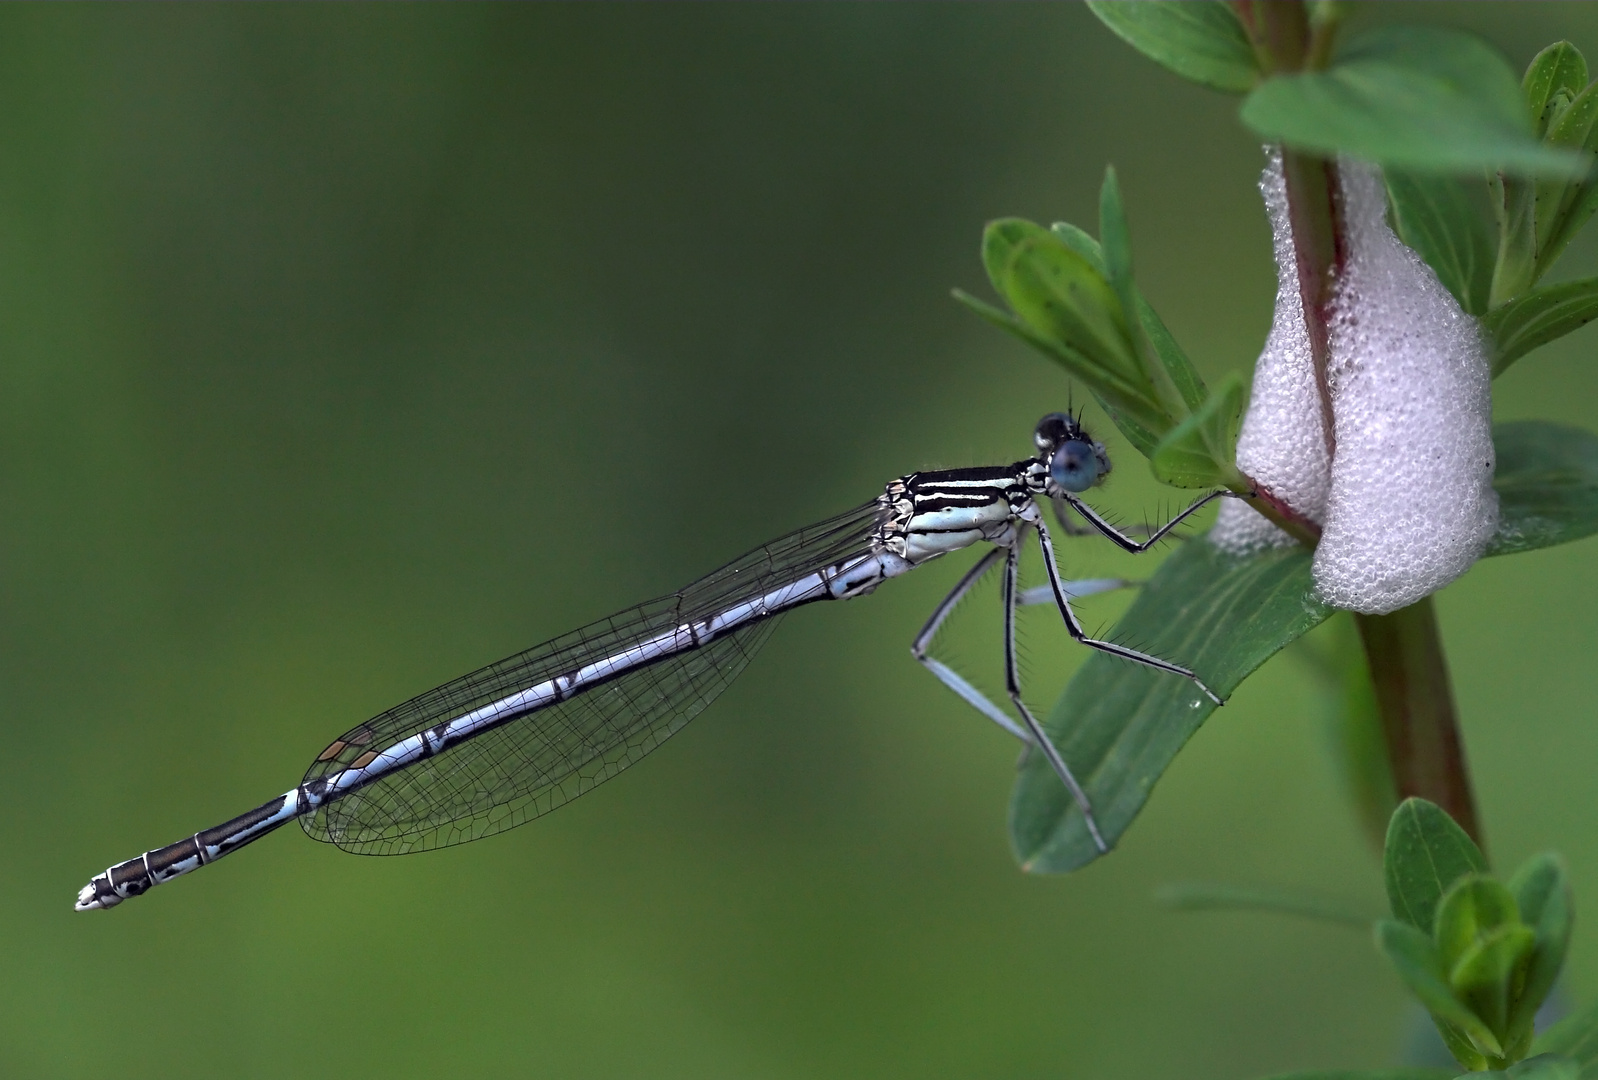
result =
[{"label": "narrow left strip of white foam, left of the reddish stem", "polygon": [[[1304,329],[1304,299],[1293,254],[1280,150],[1269,152],[1259,193],[1266,200],[1270,246],[1277,257],[1277,312],[1254,364],[1248,412],[1237,436],[1237,467],[1298,513],[1320,521],[1331,489],[1331,455],[1322,431],[1315,363]],[[1210,538],[1235,554],[1296,543],[1237,498],[1221,502]]]}]

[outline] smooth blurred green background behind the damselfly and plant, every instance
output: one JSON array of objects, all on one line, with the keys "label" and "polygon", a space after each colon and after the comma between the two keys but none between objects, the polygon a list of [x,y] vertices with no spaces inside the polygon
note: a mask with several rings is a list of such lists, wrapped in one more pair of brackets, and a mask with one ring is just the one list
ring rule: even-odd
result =
[{"label": "smooth blurred green background behind the damselfly and plant", "polygon": [[[1598,54],[1592,5],[1357,18]],[[1234,99],[1074,5],[11,6],[0,94],[0,1074],[1395,1059],[1363,935],[1149,901],[1203,877],[1379,907],[1306,669],[1248,682],[1114,858],[1026,877],[1012,741],[906,650],[956,559],[794,615],[529,828],[406,860],[286,829],[72,912],[411,693],[900,473],[1024,454],[1069,385],[948,289],[986,294],[986,219],[1091,227],[1106,163],[1151,300],[1208,375],[1246,367],[1275,286]],[[1592,423],[1593,348],[1521,361],[1499,415]],[[1168,510],[1111,446],[1101,503]],[[1588,919],[1592,543],[1440,599],[1494,855],[1563,850]],[[964,615],[996,663],[992,609]],[[1032,637],[1047,703],[1080,655]],[[1590,933],[1566,984],[1598,994]]]}]

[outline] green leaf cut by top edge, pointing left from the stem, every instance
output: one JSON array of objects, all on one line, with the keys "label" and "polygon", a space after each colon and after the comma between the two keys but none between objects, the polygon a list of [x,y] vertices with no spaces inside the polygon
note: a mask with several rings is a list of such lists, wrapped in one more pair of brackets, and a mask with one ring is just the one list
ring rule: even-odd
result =
[{"label": "green leaf cut by top edge, pointing left from the stem", "polygon": [[1219,0],[1088,0],[1131,48],[1183,78],[1235,94],[1259,81],[1259,62],[1232,6]]}]

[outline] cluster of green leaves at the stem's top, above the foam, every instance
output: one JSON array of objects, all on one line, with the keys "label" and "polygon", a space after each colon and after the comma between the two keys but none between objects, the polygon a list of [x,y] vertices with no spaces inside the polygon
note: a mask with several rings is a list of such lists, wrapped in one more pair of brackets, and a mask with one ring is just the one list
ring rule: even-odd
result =
[{"label": "cluster of green leaves at the stem's top, above the foam", "polygon": [[[1521,78],[1480,38],[1448,27],[1376,27],[1326,61],[1278,70],[1259,27],[1221,0],[1090,0],[1163,67],[1245,94],[1254,134],[1382,166],[1393,227],[1481,320],[1493,374],[1598,316],[1598,278],[1537,288],[1598,212],[1598,83],[1569,42]],[[1331,40],[1338,8],[1315,34]]]}]

